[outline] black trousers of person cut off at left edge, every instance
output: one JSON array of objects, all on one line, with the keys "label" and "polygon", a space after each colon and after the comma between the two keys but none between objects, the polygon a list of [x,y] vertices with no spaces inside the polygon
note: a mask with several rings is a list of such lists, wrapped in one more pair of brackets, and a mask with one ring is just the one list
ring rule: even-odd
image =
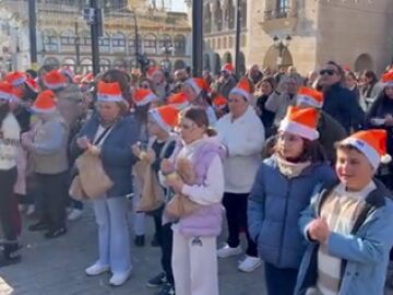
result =
[{"label": "black trousers of person cut off at left edge", "polygon": [[0,223],[4,238],[14,241],[17,238],[17,224],[14,217],[13,187],[16,182],[16,167],[0,170]]}]

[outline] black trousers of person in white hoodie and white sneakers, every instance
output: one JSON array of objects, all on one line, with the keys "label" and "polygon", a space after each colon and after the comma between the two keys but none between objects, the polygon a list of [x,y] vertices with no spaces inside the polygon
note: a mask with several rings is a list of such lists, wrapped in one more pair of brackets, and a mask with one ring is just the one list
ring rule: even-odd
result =
[{"label": "black trousers of person in white hoodie and white sneakers", "polygon": [[247,225],[247,201],[249,193],[225,192],[223,204],[226,211],[229,236],[227,243],[229,247],[236,248],[240,244],[240,231],[245,231],[248,248],[246,253],[258,257],[257,244],[251,239]]}]

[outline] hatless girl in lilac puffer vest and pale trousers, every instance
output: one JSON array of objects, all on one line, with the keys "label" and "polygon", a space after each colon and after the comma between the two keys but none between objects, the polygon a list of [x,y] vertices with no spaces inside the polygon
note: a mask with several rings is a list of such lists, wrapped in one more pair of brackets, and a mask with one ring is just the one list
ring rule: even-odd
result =
[{"label": "hatless girl in lilac puffer vest and pale trousers", "polygon": [[[182,146],[171,160],[162,162],[165,182],[175,193],[186,196],[199,204],[190,215],[174,225],[172,269],[176,294],[218,295],[216,239],[222,232],[224,172],[218,140],[210,139],[209,119],[204,109],[190,108],[182,115],[180,134]],[[179,160],[192,164],[195,185],[186,185],[179,177],[170,177]]]}]

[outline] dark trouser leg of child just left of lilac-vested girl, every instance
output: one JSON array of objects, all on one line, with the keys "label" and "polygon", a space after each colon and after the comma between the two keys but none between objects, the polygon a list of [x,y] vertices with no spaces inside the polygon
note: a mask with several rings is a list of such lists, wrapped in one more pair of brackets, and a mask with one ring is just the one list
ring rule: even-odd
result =
[{"label": "dark trouser leg of child just left of lilac-vested girl", "polygon": [[163,225],[162,228],[162,267],[167,276],[167,282],[175,285],[174,272],[171,268],[174,232],[171,229],[171,223]]}]

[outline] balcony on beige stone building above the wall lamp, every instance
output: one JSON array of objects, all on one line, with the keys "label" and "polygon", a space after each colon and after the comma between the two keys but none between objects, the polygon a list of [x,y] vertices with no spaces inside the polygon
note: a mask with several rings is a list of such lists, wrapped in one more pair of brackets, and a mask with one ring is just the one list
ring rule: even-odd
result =
[{"label": "balcony on beige stone building above the wall lamp", "polygon": [[290,5],[266,10],[260,24],[266,33],[276,30],[294,31],[297,24],[296,0],[291,0]]}]

